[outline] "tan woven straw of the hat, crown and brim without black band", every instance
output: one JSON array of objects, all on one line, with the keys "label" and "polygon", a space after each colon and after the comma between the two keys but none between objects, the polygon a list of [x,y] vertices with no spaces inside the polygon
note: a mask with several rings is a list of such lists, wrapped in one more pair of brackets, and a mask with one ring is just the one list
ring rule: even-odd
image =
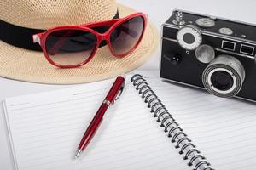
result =
[{"label": "tan woven straw of the hat, crown and brim without black band", "polygon": [[[117,9],[119,17],[134,13],[134,10],[116,3],[115,0],[0,0],[2,21],[42,30],[53,26],[112,20]],[[7,30],[0,26],[0,31],[3,34]],[[96,82],[143,65],[152,56],[159,39],[156,28],[149,21],[143,41],[132,54],[118,59],[112,56],[108,46],[104,46],[98,49],[96,56],[88,64],[74,69],[56,68],[48,63],[43,52],[18,48],[1,39],[0,77],[51,84]]]}]

